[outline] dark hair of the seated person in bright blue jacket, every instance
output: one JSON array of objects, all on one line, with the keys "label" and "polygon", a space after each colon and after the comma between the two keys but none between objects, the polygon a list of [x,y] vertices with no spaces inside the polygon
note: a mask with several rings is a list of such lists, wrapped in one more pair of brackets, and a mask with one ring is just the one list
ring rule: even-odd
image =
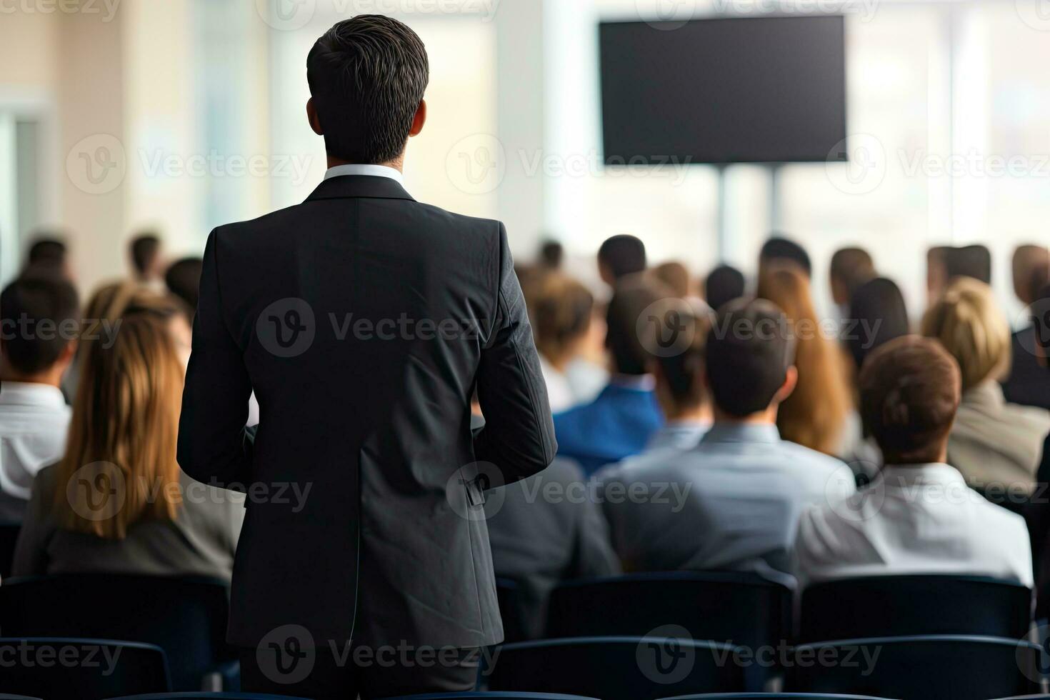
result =
[{"label": "dark hair of the seated person in bright blue jacket", "polygon": [[[616,284],[606,310],[605,346],[612,357],[614,372],[620,375],[645,375],[650,359],[638,334],[638,319],[651,304],[673,297],[644,275],[625,277]],[[643,319],[642,325],[645,327]]]}]

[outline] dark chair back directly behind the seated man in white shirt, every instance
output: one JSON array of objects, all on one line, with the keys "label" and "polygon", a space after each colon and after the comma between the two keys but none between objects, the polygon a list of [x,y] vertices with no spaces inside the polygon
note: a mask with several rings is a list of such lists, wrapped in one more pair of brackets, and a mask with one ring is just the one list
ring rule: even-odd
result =
[{"label": "dark chair back directly behind the seated man in white shirt", "polygon": [[802,593],[799,640],[909,635],[1023,639],[1032,592],[982,576],[867,576],[814,584]]}]

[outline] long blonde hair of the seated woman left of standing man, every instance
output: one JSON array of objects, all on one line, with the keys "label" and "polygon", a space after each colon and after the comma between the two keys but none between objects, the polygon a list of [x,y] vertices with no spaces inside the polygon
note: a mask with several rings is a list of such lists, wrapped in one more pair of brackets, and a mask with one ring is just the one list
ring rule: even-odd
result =
[{"label": "long blonde hair of the seated woman left of standing man", "polygon": [[[174,519],[183,367],[167,328],[172,305],[144,290],[113,294],[112,333],[86,325],[66,452],[58,465],[61,527],[123,539],[141,521]],[[112,295],[112,296],[110,296]],[[90,323],[90,322],[89,322]],[[118,325],[119,324],[119,325]]]}]

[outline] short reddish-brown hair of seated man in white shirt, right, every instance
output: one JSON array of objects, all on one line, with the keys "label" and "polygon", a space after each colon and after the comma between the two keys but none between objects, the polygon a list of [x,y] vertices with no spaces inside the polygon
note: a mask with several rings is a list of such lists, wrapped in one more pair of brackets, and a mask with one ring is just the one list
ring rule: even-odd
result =
[{"label": "short reddish-brown hair of seated man in white shirt, right", "polygon": [[860,373],[860,415],[886,464],[940,459],[959,408],[956,359],[937,340],[904,336],[868,356]]}]

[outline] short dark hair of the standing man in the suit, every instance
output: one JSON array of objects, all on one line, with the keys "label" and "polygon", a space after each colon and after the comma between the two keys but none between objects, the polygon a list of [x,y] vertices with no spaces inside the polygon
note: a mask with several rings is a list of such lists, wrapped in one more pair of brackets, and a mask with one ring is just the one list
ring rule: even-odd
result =
[{"label": "short dark hair of the standing man in the suit", "polygon": [[390,17],[358,15],[321,35],[307,82],[329,155],[365,164],[401,155],[429,71],[419,36]]}]

